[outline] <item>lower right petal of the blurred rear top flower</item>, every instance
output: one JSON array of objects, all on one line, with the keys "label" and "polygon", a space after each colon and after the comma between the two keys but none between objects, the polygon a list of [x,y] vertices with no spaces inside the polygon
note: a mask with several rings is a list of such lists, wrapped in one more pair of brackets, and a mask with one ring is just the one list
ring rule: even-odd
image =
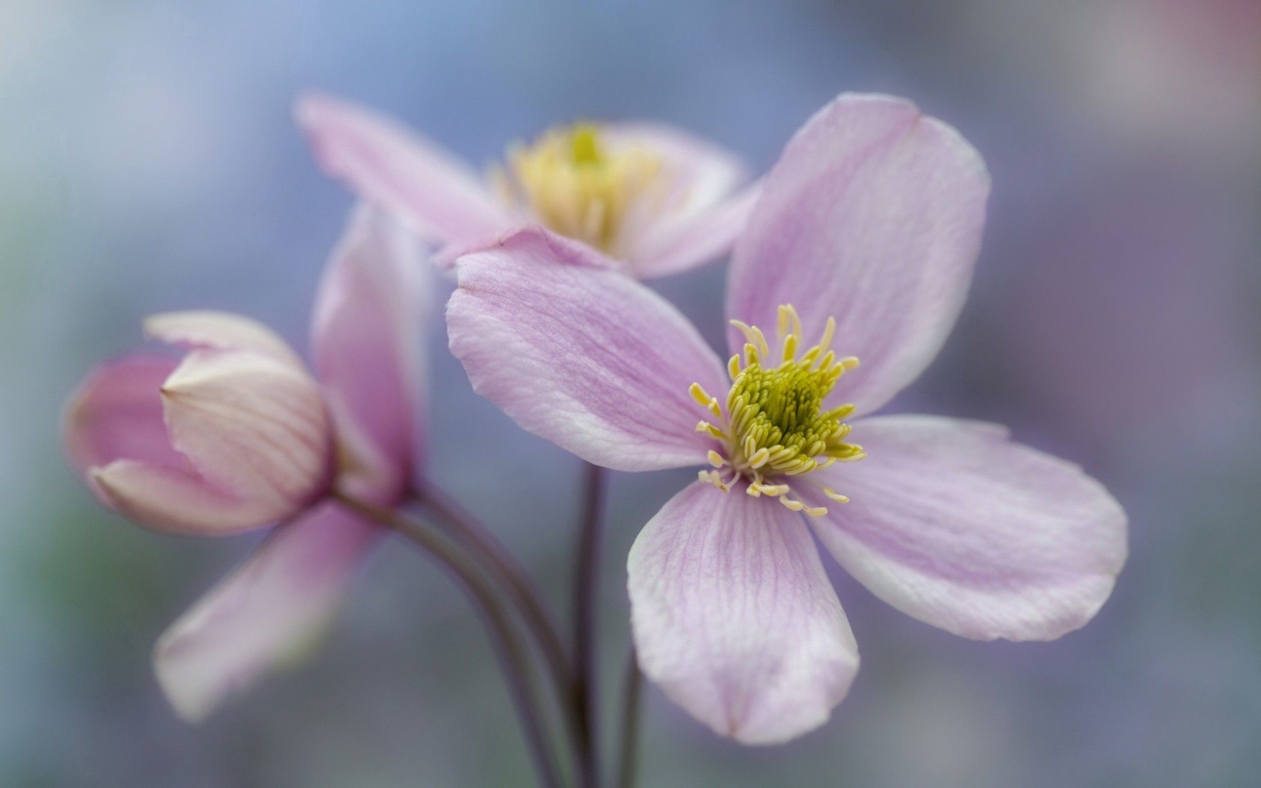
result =
[{"label": "lower right petal of the blurred rear top flower", "polygon": [[639,279],[678,274],[721,257],[740,237],[757,204],[759,185],[686,221],[661,223],[629,242],[627,265]]}]

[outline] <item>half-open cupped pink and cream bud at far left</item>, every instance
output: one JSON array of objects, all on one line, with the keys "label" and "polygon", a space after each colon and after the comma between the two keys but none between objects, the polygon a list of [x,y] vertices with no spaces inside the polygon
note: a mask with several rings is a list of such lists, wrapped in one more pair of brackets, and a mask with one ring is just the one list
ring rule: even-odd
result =
[{"label": "half-open cupped pink and cream bud at far left", "polygon": [[328,489],[328,414],[284,340],[222,313],[145,328],[192,349],[103,364],[66,412],[71,460],[102,503],[159,531],[217,535],[296,514]]}]

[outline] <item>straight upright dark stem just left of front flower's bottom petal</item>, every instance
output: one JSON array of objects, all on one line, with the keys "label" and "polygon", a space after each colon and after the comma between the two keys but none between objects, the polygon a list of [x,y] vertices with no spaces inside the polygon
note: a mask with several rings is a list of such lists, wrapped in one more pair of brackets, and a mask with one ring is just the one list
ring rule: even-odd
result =
[{"label": "straight upright dark stem just left of front flower's bottom petal", "polygon": [[596,705],[596,622],[600,579],[600,519],[604,509],[604,469],[586,464],[583,474],[583,519],[578,532],[574,572],[574,709],[579,720],[579,750],[588,785],[598,787],[599,710]]}]

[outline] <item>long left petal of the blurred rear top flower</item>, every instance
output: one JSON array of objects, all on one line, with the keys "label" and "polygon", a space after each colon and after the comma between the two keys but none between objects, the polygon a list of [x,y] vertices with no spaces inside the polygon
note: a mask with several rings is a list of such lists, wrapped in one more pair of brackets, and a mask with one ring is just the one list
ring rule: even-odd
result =
[{"label": "long left petal of the blurred rear top flower", "polygon": [[467,165],[391,120],[320,93],[294,115],[320,169],[430,243],[491,238],[513,222]]}]

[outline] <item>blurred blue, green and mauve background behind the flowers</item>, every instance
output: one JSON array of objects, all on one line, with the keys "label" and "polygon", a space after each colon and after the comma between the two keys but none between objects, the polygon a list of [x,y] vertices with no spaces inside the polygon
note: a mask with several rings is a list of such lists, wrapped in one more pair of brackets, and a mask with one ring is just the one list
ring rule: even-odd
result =
[{"label": "blurred blue, green and mauve background behind the flowers", "polygon": [[[305,344],[351,200],[290,121],[320,87],[477,163],[579,117],[649,117],[754,169],[846,90],[908,96],[994,175],[943,356],[897,408],[989,419],[1131,516],[1112,600],[1055,643],[971,643],[836,572],[849,700],[741,749],[649,691],[642,785],[1255,785],[1261,773],[1261,4],[1255,0],[0,1],[0,784],[528,785],[482,632],[390,543],[314,658],[179,722],[155,637],[255,538],[98,509],[58,416],[142,315],[219,308]],[[718,340],[721,266],[654,282]],[[576,460],[469,390],[435,325],[434,477],[564,606]],[[624,556],[681,474],[618,475]],[[834,567],[835,569],[835,567]]]}]

